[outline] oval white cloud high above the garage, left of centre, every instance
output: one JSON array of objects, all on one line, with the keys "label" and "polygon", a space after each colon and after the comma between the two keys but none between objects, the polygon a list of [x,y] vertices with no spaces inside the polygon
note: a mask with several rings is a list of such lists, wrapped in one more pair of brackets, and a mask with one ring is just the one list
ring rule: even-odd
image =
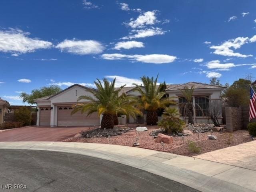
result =
[{"label": "oval white cloud high above the garage, left of centre", "polygon": [[102,53],[105,47],[98,41],[95,40],[64,40],[60,42],[56,48],[61,51],[77,54],[77,55],[87,55],[87,54],[99,54]]}]

